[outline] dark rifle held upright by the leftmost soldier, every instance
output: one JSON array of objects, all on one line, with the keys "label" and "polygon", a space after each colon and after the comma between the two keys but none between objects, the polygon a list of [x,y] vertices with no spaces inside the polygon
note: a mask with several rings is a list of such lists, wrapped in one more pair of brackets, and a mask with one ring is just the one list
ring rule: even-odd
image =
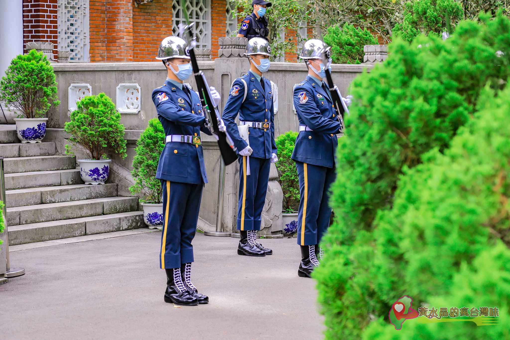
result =
[{"label": "dark rifle held upright by the leftmost soldier", "polygon": [[188,53],[191,58],[191,67],[195,76],[195,82],[200,97],[202,112],[206,115],[206,118],[209,121],[209,129],[213,134],[218,136],[218,145],[223,162],[225,165],[229,165],[237,161],[238,155],[234,148],[234,142],[230,136],[224,132],[221,132],[218,128],[220,115],[218,109],[215,107],[213,96],[209,90],[209,84],[207,83],[206,76],[198,68],[194,50],[196,46],[196,38],[193,35],[193,23],[190,23],[189,21],[186,6],[183,7],[183,12],[187,24],[181,24],[181,35],[188,44]]}]

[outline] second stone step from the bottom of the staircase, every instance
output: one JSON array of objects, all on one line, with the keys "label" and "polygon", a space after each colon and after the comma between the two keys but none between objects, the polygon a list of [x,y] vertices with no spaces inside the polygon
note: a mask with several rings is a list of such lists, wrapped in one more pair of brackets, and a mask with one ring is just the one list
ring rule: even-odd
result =
[{"label": "second stone step from the bottom of the staircase", "polygon": [[136,211],[137,197],[106,197],[7,208],[7,225],[68,220]]}]

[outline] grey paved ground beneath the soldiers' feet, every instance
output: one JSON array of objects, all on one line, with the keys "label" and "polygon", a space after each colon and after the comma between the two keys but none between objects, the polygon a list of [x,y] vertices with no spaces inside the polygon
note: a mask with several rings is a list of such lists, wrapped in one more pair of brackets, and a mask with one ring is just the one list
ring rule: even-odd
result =
[{"label": "grey paved ground beneath the soldiers' feet", "polygon": [[297,277],[295,239],[274,255],[236,254],[234,238],[193,241],[193,283],[208,305],[163,302],[161,232],[11,252],[27,274],[0,285],[0,338],[321,339],[315,281]]}]

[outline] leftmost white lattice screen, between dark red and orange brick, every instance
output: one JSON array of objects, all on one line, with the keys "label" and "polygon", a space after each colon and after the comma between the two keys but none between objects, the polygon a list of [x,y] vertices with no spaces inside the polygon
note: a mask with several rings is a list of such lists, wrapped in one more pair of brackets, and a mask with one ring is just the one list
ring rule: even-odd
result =
[{"label": "leftmost white lattice screen, between dark red and orange brick", "polygon": [[58,0],[59,50],[70,62],[89,61],[89,0]]}]

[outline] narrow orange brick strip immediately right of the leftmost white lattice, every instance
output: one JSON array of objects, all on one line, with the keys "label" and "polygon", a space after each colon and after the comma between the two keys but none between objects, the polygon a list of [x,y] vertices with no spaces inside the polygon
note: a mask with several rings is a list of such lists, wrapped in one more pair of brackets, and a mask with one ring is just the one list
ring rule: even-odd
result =
[{"label": "narrow orange brick strip immediately right of the leftmost white lattice", "polygon": [[89,0],[90,62],[106,62],[106,0]]}]

